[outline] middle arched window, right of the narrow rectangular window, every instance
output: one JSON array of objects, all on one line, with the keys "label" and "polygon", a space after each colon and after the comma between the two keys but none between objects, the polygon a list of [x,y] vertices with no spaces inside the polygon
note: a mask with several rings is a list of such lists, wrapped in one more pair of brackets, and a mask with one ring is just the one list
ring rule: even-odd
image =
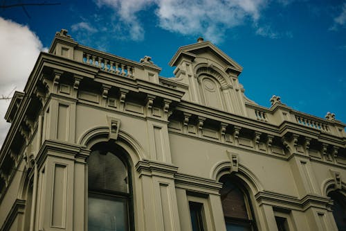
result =
[{"label": "middle arched window, right of the narrow rectangular window", "polygon": [[220,195],[226,230],[257,230],[251,201],[241,182],[230,175],[222,176],[219,181],[223,183]]}]

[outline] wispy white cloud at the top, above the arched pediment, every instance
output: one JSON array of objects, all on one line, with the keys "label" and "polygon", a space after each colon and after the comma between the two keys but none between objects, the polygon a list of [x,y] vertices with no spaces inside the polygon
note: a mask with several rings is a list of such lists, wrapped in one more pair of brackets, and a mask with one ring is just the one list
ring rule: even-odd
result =
[{"label": "wispy white cloud at the top, above the arched pediment", "polygon": [[132,40],[144,38],[139,12],[154,6],[152,16],[157,17],[161,28],[183,35],[203,35],[217,43],[222,41],[226,30],[247,20],[257,22],[267,0],[98,0],[96,3],[116,12]]}]

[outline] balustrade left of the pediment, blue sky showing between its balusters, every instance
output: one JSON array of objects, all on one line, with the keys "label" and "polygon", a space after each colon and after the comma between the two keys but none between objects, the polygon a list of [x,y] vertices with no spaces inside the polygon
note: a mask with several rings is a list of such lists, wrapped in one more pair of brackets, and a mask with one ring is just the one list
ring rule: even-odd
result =
[{"label": "balustrade left of the pediment, blue sky showing between its balusters", "polygon": [[134,67],[126,65],[120,60],[111,60],[108,58],[102,58],[98,55],[91,55],[83,52],[83,62],[113,74],[130,78],[134,77]]}]

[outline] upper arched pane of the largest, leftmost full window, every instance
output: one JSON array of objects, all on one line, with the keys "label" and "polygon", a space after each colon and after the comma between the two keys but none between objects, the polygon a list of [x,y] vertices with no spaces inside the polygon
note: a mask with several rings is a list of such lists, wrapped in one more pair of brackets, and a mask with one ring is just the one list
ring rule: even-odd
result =
[{"label": "upper arched pane of the largest, leftmost full window", "polygon": [[93,151],[88,160],[89,189],[128,193],[127,168],[113,153]]}]

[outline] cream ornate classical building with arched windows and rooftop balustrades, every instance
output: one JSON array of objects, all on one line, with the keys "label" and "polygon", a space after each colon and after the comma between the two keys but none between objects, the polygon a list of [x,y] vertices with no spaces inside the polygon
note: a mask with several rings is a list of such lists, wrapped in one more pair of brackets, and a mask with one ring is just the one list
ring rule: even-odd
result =
[{"label": "cream ornate classical building with arched windows and rooftop balustrades", "polygon": [[346,229],[344,123],[257,105],[202,39],[170,65],[57,33],[6,113],[1,230]]}]

